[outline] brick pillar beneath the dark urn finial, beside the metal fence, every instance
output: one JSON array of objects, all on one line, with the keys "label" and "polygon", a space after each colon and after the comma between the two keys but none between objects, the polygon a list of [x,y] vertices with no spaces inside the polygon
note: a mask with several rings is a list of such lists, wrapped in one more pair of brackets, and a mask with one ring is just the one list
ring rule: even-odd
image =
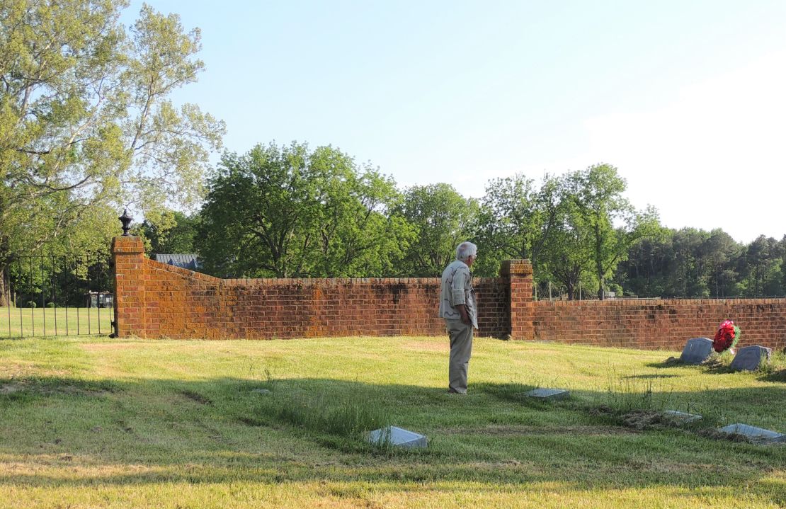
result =
[{"label": "brick pillar beneath the dark urn finial, beside the metal fence", "polygon": [[115,333],[145,337],[145,245],[138,236],[112,239],[115,266]]}]

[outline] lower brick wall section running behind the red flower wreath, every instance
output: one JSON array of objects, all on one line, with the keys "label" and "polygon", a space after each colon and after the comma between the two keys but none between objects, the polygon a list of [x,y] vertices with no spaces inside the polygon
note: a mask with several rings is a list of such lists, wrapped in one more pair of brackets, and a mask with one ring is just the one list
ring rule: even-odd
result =
[{"label": "lower brick wall section running behind the red flower wreath", "polygon": [[538,301],[534,338],[681,350],[688,339],[712,339],[726,318],[740,326],[740,346],[786,347],[786,298]]}]

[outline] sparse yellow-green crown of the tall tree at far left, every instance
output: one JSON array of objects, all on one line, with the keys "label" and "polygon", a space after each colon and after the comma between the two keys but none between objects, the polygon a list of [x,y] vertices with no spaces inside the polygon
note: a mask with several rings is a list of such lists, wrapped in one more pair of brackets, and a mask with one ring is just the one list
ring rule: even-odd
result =
[{"label": "sparse yellow-green crown of the tall tree at far left", "polygon": [[200,196],[224,126],[168,99],[204,67],[200,32],[147,5],[127,32],[125,6],[0,2],[0,276],[93,207]]}]

